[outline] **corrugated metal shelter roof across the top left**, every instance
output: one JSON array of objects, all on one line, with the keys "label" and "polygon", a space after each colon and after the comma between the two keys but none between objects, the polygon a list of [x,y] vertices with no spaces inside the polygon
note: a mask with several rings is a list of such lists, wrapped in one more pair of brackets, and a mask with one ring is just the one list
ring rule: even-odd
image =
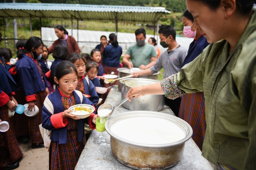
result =
[{"label": "corrugated metal shelter roof across the top left", "polygon": [[77,18],[80,20],[115,20],[157,22],[163,7],[81,5],[55,3],[0,3],[0,17],[9,18]]}]

